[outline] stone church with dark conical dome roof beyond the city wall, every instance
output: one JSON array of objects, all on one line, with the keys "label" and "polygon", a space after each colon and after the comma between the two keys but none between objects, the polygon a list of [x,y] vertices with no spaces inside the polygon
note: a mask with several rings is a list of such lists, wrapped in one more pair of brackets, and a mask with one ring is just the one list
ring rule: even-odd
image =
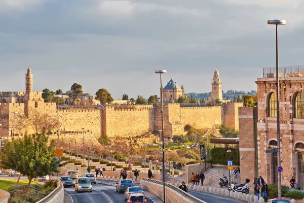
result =
[{"label": "stone church with dark conical dome roof beyond the city wall", "polygon": [[176,82],[174,82],[173,78],[167,83],[167,85],[163,88],[163,97],[164,100],[175,100],[179,97],[185,96],[185,89],[183,85],[179,87]]}]

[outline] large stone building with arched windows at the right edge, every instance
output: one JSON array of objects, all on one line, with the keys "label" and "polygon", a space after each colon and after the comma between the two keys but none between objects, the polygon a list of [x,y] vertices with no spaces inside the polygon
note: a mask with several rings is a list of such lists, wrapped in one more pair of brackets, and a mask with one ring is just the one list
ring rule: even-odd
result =
[{"label": "large stone building with arched windows at the right edge", "polygon": [[[243,171],[250,177],[260,175],[267,183],[277,183],[277,100],[275,68],[264,68],[258,78],[256,113],[240,109],[240,156]],[[292,176],[304,188],[304,67],[280,67],[280,144],[282,184],[289,186]],[[242,142],[243,141],[243,142]]]}]

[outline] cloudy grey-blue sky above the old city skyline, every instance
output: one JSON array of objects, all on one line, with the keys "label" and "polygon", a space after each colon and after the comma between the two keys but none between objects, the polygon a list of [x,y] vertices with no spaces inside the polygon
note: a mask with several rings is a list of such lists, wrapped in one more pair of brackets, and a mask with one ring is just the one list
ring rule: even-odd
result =
[{"label": "cloudy grey-blue sky above the old city skyline", "polygon": [[263,67],[303,65],[302,0],[0,0],[0,91],[73,83],[114,99],[159,94],[171,77],[185,92],[256,90]]}]

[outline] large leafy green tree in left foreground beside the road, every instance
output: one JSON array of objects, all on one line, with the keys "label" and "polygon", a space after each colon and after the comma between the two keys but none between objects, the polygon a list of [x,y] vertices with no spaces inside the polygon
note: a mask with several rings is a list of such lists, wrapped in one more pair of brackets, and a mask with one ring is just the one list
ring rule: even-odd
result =
[{"label": "large leafy green tree in left foreground beside the road", "polygon": [[57,172],[59,162],[55,157],[55,142],[48,146],[48,138],[44,134],[25,134],[24,139],[13,139],[0,149],[0,164],[12,168],[28,178],[25,190],[33,178],[51,175]]}]

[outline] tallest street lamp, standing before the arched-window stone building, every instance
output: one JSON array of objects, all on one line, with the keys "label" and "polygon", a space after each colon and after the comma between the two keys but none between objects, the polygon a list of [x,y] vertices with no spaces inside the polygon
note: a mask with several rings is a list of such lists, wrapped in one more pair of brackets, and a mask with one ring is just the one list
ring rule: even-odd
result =
[{"label": "tallest street lamp, standing before the arched-window stone building", "polygon": [[[285,25],[285,20],[268,20],[268,24],[276,25],[276,87],[277,87],[277,140],[278,140],[278,166],[281,166],[281,140],[280,140],[280,102],[279,102],[279,59],[278,59],[278,25]],[[278,197],[281,199],[281,173],[278,173]]]}]

